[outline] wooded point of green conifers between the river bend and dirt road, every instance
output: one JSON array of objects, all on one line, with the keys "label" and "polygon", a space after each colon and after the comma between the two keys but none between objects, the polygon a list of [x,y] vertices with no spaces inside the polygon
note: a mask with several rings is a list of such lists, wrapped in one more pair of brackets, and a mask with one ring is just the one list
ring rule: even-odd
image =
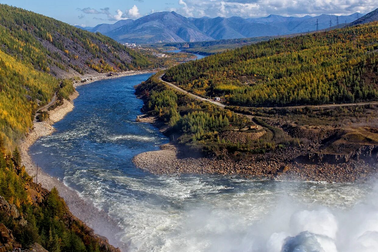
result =
[{"label": "wooded point of green conifers between the river bend and dirt road", "polygon": [[[178,143],[190,148],[194,153],[250,147],[221,142],[217,138],[218,132],[232,130],[235,127],[243,128],[249,123],[246,117],[175,91],[158,80],[159,74],[139,84],[136,94],[144,99],[144,112],[158,117],[168,126],[166,135],[174,134]],[[261,146],[265,144],[262,143]]]}]

